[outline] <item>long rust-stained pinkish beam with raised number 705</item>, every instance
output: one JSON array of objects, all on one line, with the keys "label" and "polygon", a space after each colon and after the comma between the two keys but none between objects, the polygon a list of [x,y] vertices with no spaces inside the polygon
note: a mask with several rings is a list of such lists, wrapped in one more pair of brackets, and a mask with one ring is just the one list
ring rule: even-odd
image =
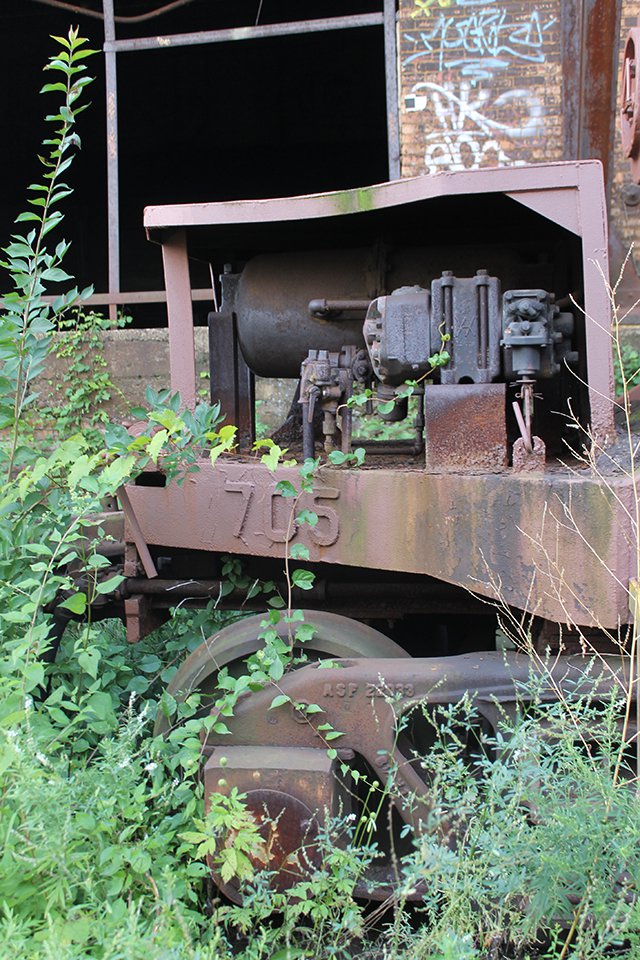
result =
[{"label": "long rust-stained pinkish beam with raised number 705", "polygon": [[624,476],[605,489],[560,468],[540,477],[326,467],[295,508],[318,523],[300,528],[275,489],[284,479],[297,483],[297,471],[230,459],[202,462],[180,487],[128,492],[150,545],[284,558],[287,543],[302,543],[314,562],[425,574],[551,620],[614,627],[628,618],[635,545]]}]

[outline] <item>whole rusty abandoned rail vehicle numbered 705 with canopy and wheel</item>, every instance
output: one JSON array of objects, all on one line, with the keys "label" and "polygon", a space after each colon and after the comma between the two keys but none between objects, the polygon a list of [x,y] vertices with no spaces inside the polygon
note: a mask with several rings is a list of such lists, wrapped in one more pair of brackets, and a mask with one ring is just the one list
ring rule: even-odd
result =
[{"label": "whole rusty abandoned rail vehicle numbered 705 with canopy and wheel", "polygon": [[[126,487],[120,597],[131,640],[178,602],[259,609],[259,597],[225,584],[225,558],[286,596],[285,562],[291,575],[293,546],[306,547],[315,581],[294,587],[293,605],[313,627],[307,663],[243,696],[225,721],[231,736],[203,740],[207,794],[235,787],[271,823],[267,866],[285,888],[313,864],[327,812],[358,813],[344,764],[389,779],[389,830],[428,819],[428,731],[398,733],[416,701],[475,699],[470,763],[481,731],[515,709],[531,657],[509,649],[500,611],[526,621],[529,654],[553,652],[551,698],[576,682],[578,641],[611,653],[611,633],[631,620],[634,490],[607,453],[617,446],[601,167],[150,207],[145,225],[162,249],[171,386],[186,405],[201,382],[190,270],[220,278],[211,396],[238,443],[182,485],[166,482],[160,462]],[[253,450],[256,377],[297,381],[277,436],[287,457],[320,458],[295,501],[315,525],[296,522],[278,486],[298,489],[298,468],[273,472]],[[349,400],[363,391],[369,416],[404,421],[403,436],[359,441]],[[360,466],[349,458],[357,447]],[[334,450],[341,463],[329,461]],[[172,680],[174,697],[211,692],[223,666],[238,670],[262,619],[203,643]],[[286,637],[288,625],[274,629]],[[334,666],[319,669],[327,658]],[[596,669],[607,684],[621,667],[611,656]],[[288,700],[269,709],[276,692]],[[335,750],[305,704],[342,734]],[[382,857],[361,892],[383,898],[391,879]]]}]

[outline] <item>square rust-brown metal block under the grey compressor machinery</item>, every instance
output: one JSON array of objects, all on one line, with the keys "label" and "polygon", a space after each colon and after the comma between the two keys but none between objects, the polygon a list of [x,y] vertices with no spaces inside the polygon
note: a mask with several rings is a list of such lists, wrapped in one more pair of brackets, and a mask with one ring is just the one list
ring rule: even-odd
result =
[{"label": "square rust-brown metal block under the grey compressor machinery", "polygon": [[427,469],[445,473],[507,465],[504,383],[425,388]]}]

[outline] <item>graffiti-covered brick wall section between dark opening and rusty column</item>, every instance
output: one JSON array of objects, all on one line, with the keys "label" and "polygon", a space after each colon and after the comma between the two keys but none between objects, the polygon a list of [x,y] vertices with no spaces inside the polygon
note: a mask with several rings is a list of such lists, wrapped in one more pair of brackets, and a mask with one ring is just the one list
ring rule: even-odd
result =
[{"label": "graffiti-covered brick wall section between dark opening and rusty column", "polygon": [[562,157],[560,0],[400,0],[402,175]]}]

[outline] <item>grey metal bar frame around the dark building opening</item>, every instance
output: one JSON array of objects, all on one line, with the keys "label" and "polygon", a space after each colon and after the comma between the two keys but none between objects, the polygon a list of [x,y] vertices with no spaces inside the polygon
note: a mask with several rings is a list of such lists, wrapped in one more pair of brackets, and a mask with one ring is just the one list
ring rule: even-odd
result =
[{"label": "grey metal bar frame around the dark building opening", "polygon": [[[159,302],[155,292],[144,298],[144,291],[135,291],[134,298],[120,290],[120,211],[118,171],[118,80],[117,54],[137,50],[161,50],[167,47],[196,44],[229,43],[238,40],[260,40],[270,37],[296,36],[330,30],[361,27],[383,27],[385,53],[385,89],[389,178],[400,176],[400,130],[398,102],[396,0],[383,0],[380,13],[296,20],[263,26],[233,27],[227,30],[201,30],[167,36],[116,39],[114,0],[102,0],[104,16],[105,84],[107,110],[107,229],[108,229],[108,294],[90,298],[89,304],[108,304],[109,316],[115,319],[116,306],[125,303]],[[201,296],[197,299],[213,299]]]}]

